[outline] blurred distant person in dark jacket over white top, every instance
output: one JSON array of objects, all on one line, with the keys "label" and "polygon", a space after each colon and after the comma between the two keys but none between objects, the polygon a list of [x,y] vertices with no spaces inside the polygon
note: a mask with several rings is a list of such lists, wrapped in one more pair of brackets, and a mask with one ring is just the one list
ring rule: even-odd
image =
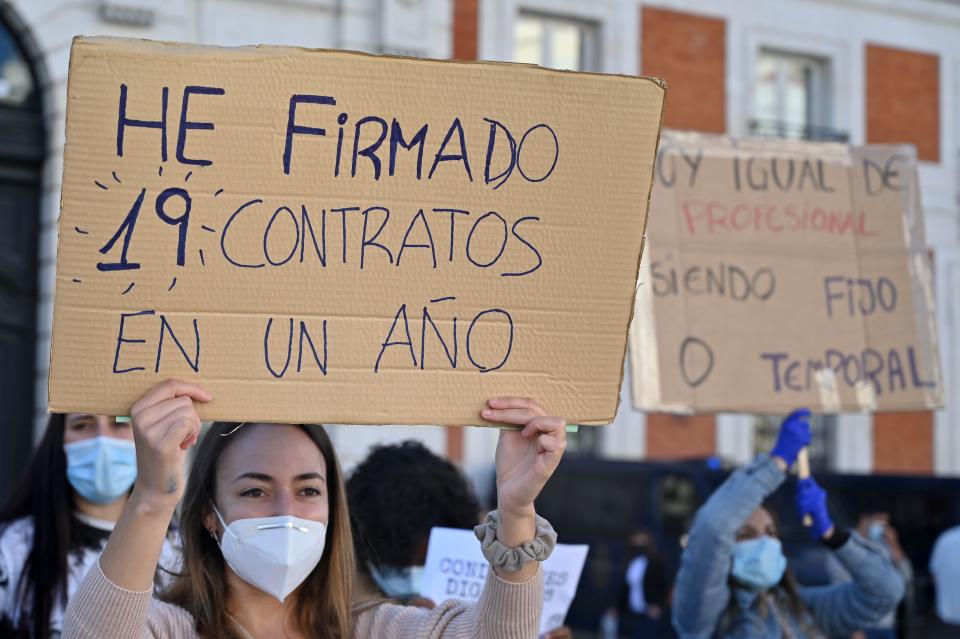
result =
[{"label": "blurred distant person in dark jacket over white top", "polygon": [[616,613],[623,630],[635,639],[658,635],[660,621],[670,598],[670,580],[663,559],[647,530],[637,530],[627,542],[627,568],[620,589]]}]

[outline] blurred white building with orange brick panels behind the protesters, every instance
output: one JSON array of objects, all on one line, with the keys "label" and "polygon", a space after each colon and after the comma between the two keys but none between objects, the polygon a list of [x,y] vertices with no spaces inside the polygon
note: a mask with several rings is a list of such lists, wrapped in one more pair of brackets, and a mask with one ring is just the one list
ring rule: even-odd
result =
[{"label": "blurred white building with orange brick panels behind the protesters", "polygon": [[[112,34],[532,62],[659,76],[665,126],[862,143],[921,159],[948,406],[816,421],[815,467],[960,475],[960,2],[956,0],[0,0],[0,479],[45,421],[71,39]],[[763,415],[644,415],[629,366],[616,422],[573,448],[628,460],[767,449]],[[347,466],[416,438],[489,485],[496,432],[334,427]]]}]

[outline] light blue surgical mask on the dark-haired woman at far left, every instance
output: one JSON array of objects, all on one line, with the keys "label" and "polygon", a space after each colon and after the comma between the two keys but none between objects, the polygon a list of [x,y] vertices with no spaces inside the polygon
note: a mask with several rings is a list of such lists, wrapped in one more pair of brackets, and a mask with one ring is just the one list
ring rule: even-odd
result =
[{"label": "light blue surgical mask on the dark-haired woman at far left", "polygon": [[137,478],[137,452],[128,439],[101,435],[64,444],[63,451],[70,485],[95,504],[116,501]]}]

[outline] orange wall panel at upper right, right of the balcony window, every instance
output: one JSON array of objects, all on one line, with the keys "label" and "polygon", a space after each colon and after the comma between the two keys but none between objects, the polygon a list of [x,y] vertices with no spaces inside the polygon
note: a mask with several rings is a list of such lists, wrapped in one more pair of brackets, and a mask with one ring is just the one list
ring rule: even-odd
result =
[{"label": "orange wall panel at upper right, right of the balcony window", "polygon": [[868,44],[867,142],[913,144],[940,161],[940,58]]}]

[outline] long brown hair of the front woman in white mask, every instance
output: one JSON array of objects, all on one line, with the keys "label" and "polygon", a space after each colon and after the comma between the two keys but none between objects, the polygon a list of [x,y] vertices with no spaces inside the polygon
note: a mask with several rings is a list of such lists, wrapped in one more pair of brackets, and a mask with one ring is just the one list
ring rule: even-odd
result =
[{"label": "long brown hair of the front woman in white mask", "polygon": [[[350,599],[353,592],[353,541],[343,473],[333,444],[322,426],[297,424],[320,449],[327,466],[330,520],[326,550],[320,563],[301,584],[295,614],[301,631],[310,637],[349,639],[352,634]],[[252,426],[216,422],[200,440],[190,468],[180,514],[183,541],[182,574],[161,598],[193,615],[197,633],[208,639],[234,639],[227,616],[227,582],[223,555],[203,525],[216,495],[217,461],[232,442]],[[234,432],[236,431],[236,432]],[[232,434],[231,434],[232,433]]]}]

